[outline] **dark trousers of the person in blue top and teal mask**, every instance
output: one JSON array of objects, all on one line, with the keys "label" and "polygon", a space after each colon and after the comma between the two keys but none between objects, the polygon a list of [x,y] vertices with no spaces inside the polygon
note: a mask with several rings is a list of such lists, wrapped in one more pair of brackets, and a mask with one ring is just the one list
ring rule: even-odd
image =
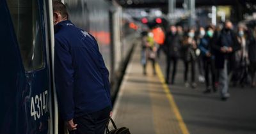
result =
[{"label": "dark trousers of the person in blue top and teal mask", "polygon": [[208,57],[204,57],[204,76],[206,87],[210,86],[209,74],[211,73],[212,87],[215,88],[216,71],[214,68],[214,60]]}]

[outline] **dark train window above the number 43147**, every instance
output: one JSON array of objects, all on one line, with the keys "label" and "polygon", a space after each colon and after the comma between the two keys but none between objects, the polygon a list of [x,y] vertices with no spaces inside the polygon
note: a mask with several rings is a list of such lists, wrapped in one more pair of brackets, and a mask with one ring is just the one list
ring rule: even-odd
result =
[{"label": "dark train window above the number 43147", "polygon": [[42,26],[38,2],[7,0],[26,71],[43,68]]}]

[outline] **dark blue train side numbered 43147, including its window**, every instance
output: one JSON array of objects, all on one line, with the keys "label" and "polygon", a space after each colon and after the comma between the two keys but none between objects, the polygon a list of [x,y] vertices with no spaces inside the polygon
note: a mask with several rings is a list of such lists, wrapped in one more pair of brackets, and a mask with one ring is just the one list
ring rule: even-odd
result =
[{"label": "dark blue train side numbered 43147, including its window", "polygon": [[0,133],[49,133],[44,1],[0,1]]}]

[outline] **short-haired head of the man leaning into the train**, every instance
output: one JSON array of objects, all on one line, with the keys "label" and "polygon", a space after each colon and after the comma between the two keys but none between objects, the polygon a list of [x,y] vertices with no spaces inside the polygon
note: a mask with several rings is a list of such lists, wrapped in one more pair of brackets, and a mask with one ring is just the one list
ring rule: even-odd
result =
[{"label": "short-haired head of the man leaning into the train", "polygon": [[68,12],[65,4],[61,3],[60,1],[53,1],[53,24],[56,25],[57,23],[68,20]]}]

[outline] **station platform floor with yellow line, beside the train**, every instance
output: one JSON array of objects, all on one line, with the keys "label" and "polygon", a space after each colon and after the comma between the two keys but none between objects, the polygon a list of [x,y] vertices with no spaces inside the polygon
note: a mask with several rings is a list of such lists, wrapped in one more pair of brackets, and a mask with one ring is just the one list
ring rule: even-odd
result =
[{"label": "station platform floor with yellow line, beside the train", "polygon": [[204,84],[196,89],[184,86],[182,61],[175,84],[167,85],[165,56],[157,59],[156,75],[150,63],[143,75],[140,48],[134,48],[113,107],[118,127],[132,134],[256,133],[256,89],[230,87],[230,99],[221,101],[219,93],[203,94]]}]

